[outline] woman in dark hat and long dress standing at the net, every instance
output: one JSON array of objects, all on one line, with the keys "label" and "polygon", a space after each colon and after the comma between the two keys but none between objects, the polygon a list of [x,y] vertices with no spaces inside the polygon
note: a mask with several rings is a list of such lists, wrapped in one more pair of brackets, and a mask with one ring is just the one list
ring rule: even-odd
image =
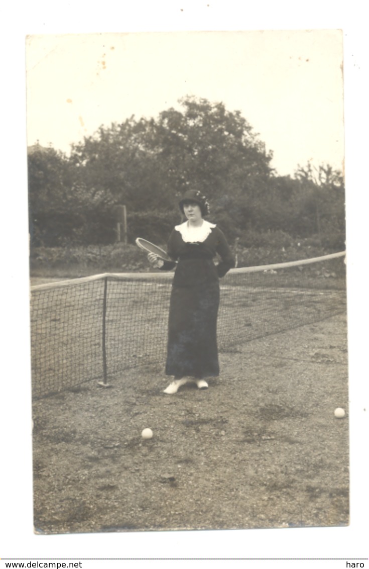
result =
[{"label": "woman in dark hat and long dress standing at the net", "polygon": [[[173,261],[148,254],[161,270],[176,267],[169,308],[168,353],[165,374],[174,381],[164,393],[176,393],[188,381],[206,389],[204,378],[219,375],[217,317],[219,277],[234,266],[226,238],[216,225],[204,219],[209,203],[201,192],[187,191],[179,207],[186,221],[176,225],[168,242]],[[214,265],[218,254],[221,262]],[[177,261],[177,262],[176,262]]]}]

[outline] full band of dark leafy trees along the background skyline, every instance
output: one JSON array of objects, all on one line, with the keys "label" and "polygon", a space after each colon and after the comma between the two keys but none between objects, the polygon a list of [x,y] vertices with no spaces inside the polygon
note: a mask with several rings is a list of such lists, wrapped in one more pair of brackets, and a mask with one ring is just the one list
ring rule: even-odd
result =
[{"label": "full band of dark leafy trees along the background skyline", "polygon": [[[278,176],[272,152],[239,111],[185,97],[154,119],[101,126],[69,158],[37,145],[28,152],[31,226],[45,245],[111,242],[114,207],[125,204],[130,238],[138,225],[165,239],[177,203],[200,189],[230,239],[247,231],[344,233],[342,175],[329,165]],[[149,222],[150,220],[150,222]],[[169,225],[170,225],[169,223]],[[51,235],[50,225],[57,229]],[[147,235],[150,238],[150,235]]]}]

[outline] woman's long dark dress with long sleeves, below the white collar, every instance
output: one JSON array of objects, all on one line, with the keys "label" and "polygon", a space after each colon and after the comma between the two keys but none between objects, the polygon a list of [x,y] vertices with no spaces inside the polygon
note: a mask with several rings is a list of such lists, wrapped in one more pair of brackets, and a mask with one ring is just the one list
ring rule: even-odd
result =
[{"label": "woman's long dark dress with long sleeves, below the white collar", "polygon": [[[213,258],[217,253],[221,262],[215,266]],[[211,227],[202,242],[186,242],[174,229],[168,254],[178,263],[169,307],[165,373],[175,377],[218,376],[219,277],[234,266],[230,248],[216,226]],[[163,269],[171,266],[167,262]]]}]

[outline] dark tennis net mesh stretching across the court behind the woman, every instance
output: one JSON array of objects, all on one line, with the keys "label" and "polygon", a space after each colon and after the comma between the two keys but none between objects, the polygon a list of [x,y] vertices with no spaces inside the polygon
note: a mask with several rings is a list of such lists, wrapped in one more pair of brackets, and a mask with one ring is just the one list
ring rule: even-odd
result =
[{"label": "dark tennis net mesh stretching across the court behind the woman", "polygon": [[[345,312],[343,257],[231,270],[221,279],[219,352]],[[104,274],[31,287],[33,397],[138,365],[163,372],[172,278]]]}]

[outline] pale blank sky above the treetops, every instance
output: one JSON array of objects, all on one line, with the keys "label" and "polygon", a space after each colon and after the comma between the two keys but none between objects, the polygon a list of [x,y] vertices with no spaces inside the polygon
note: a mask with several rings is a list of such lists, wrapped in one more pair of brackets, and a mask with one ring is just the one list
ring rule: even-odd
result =
[{"label": "pale blank sky above the treetops", "polygon": [[339,30],[30,35],[27,143],[68,154],[191,95],[240,110],[280,175],[310,160],[342,170],[342,58]]}]

